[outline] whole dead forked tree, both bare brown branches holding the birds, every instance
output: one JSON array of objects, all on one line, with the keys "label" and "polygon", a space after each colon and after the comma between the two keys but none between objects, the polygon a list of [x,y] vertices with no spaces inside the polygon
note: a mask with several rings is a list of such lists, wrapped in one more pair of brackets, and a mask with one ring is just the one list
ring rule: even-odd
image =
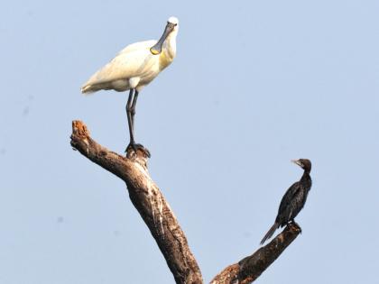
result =
[{"label": "whole dead forked tree, both bare brown branches holding the birds", "polygon": [[[87,126],[72,122],[71,146],[100,167],[123,179],[135,208],[149,227],[176,283],[203,283],[199,265],[189,250],[187,238],[160,189],[150,178],[143,151],[129,151],[126,157],[109,151],[91,139]],[[252,283],[300,234],[300,227],[289,224],[271,243],[252,255],[229,265],[211,284]]]}]

